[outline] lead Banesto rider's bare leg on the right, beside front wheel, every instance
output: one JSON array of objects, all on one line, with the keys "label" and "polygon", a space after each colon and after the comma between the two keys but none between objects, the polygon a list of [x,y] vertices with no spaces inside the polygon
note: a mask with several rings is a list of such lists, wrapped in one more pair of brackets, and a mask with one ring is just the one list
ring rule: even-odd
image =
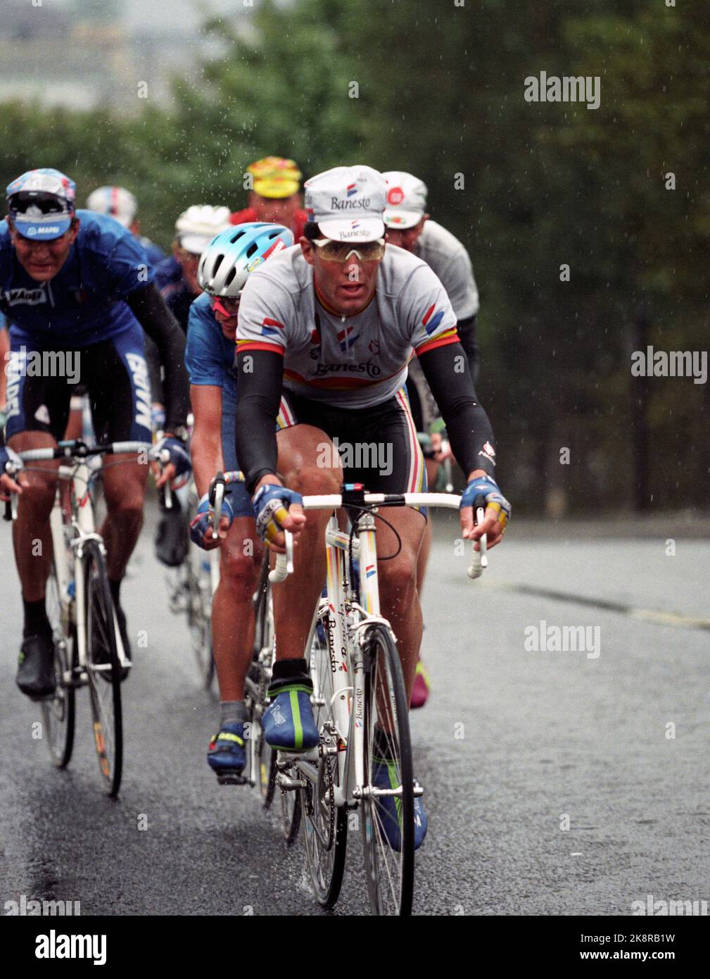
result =
[{"label": "lead Banesto rider's bare leg on the right, beside front wheel", "polygon": [[377,576],[382,615],[397,637],[397,649],[407,696],[412,695],[415,671],[422,644],[422,606],[417,585],[417,568],[424,536],[425,521],[420,513],[409,507],[388,508],[384,516],[397,531],[401,550],[397,557],[382,561],[397,550],[393,531],[376,519]]}]

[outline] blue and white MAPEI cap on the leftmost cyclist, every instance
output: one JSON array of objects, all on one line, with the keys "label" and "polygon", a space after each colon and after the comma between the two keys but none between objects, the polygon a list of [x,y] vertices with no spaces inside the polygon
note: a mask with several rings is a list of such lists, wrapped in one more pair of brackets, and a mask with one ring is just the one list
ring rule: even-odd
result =
[{"label": "blue and white MAPEI cap on the leftmost cyclist", "polygon": [[60,238],[74,214],[76,184],[50,166],[27,170],[8,184],[8,212],[23,238]]}]

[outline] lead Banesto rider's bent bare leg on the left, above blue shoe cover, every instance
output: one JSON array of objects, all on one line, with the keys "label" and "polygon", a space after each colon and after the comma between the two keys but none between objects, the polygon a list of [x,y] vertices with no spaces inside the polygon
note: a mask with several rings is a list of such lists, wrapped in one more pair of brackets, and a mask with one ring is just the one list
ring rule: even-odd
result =
[{"label": "lead Banesto rider's bent bare leg on the left, above blue shoe cover", "polygon": [[[333,448],[333,466],[321,466],[316,460],[323,452],[318,446],[330,439],[311,425],[294,425],[277,436],[279,473],[288,489],[301,495],[336,493],[342,484],[342,469]],[[313,610],[326,581],[326,525],[331,514],[311,510],[307,523],[293,548],[295,574],[286,582],[274,585],[274,619],[277,659],[299,660],[304,656]]]}]

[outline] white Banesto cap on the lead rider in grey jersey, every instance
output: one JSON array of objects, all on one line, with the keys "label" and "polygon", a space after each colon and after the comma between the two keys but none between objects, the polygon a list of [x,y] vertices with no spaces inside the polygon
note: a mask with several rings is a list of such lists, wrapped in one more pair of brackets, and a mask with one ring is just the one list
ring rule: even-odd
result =
[{"label": "white Banesto cap on the lead rider in grey jersey", "polygon": [[387,185],[372,166],[333,166],[303,185],[308,220],[337,242],[371,242],[384,235]]}]

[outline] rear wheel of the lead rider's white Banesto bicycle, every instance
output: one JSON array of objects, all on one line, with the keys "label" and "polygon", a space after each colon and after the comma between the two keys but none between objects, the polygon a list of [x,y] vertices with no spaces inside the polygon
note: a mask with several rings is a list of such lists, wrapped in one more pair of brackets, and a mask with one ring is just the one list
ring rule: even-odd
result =
[{"label": "rear wheel of the lead rider's white Banesto bicycle", "polygon": [[[318,780],[306,779],[300,790],[303,846],[316,898],[324,908],[333,908],[340,894],[345,870],[347,811],[335,806],[338,783],[339,738],[333,719],[333,670],[328,651],[328,615],[316,629],[311,645],[313,717],[321,735]],[[346,732],[347,733],[347,732]]]}]

